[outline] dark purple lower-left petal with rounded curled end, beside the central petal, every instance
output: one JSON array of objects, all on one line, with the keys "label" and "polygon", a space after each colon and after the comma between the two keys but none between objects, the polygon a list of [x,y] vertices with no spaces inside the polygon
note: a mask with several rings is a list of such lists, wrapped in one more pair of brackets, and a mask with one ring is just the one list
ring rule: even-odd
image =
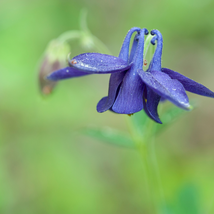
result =
[{"label": "dark purple lower-left petal with rounded curled end, beside the central petal", "polygon": [[102,113],[104,111],[109,110],[111,106],[113,105],[117,90],[123,81],[123,78],[125,76],[126,72],[120,72],[111,74],[110,81],[109,81],[109,92],[107,97],[103,97],[97,104],[97,111]]}]

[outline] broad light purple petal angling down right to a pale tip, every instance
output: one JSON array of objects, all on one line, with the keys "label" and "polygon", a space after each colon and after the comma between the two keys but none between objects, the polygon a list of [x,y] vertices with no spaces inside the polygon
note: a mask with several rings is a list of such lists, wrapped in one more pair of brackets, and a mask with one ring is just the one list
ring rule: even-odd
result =
[{"label": "broad light purple petal angling down right to a pale tip", "polygon": [[180,108],[190,109],[185,89],[178,80],[171,79],[167,74],[160,71],[144,72],[142,69],[139,69],[138,74],[142,81],[155,93],[168,99]]}]

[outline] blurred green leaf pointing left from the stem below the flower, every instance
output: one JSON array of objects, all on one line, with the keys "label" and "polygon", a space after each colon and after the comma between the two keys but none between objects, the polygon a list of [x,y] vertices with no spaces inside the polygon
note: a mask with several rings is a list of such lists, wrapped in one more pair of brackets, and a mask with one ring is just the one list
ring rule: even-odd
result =
[{"label": "blurred green leaf pointing left from the stem below the flower", "polygon": [[115,146],[122,146],[126,148],[135,148],[135,144],[131,136],[112,128],[86,128],[81,131],[82,134],[93,137],[104,143],[112,144]]}]

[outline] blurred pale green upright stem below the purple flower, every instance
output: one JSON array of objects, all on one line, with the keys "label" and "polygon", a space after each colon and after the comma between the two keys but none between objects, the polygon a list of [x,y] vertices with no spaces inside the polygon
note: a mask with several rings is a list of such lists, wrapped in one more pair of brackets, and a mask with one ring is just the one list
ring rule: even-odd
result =
[{"label": "blurred pale green upright stem below the purple flower", "polygon": [[141,132],[138,132],[139,125],[134,122],[130,123],[128,117],[127,122],[129,122],[128,125],[133,141],[135,142],[136,148],[142,158],[146,185],[145,191],[149,198],[150,212],[152,214],[159,214],[161,212],[160,208],[165,205],[165,198],[155,153],[154,133],[156,124],[149,118],[145,119],[144,122],[142,121],[144,123],[143,129]]}]

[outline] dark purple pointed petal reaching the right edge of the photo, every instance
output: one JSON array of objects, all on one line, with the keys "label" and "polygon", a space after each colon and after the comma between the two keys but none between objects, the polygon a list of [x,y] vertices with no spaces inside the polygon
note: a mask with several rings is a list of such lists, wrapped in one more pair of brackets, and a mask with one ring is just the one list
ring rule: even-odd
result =
[{"label": "dark purple pointed petal reaching the right edge of the photo", "polygon": [[202,96],[214,98],[214,92],[212,92],[210,89],[203,86],[202,84],[197,83],[194,80],[191,80],[188,77],[185,77],[184,75],[172,71],[168,68],[162,68],[161,71],[164,72],[165,74],[168,74],[172,79],[177,79],[179,82],[181,82],[187,91]]}]

